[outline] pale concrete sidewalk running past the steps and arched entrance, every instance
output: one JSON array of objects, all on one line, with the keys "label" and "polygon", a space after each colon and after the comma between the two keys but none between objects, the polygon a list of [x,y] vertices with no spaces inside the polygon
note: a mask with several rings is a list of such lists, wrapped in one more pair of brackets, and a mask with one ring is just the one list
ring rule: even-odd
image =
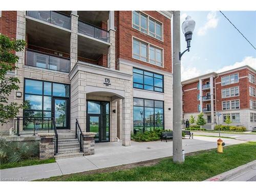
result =
[{"label": "pale concrete sidewalk running past the steps and arched entrance", "polygon": [[[245,143],[236,139],[224,139],[226,145]],[[194,139],[183,139],[185,153],[208,150],[217,147],[217,138],[195,136]],[[133,142],[131,146],[124,147],[122,142],[96,143],[95,155],[59,159],[56,163],[17,167],[0,170],[0,179],[13,180],[25,178],[49,178],[78,172],[85,172],[104,167],[135,163],[140,161],[169,157],[173,155],[173,142]]]}]

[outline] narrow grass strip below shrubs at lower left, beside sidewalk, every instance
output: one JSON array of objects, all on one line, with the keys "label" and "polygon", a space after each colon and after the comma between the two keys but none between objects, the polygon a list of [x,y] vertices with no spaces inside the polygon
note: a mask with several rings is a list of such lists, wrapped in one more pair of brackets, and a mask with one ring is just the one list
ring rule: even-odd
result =
[{"label": "narrow grass strip below shrubs at lower left, beside sidewalk", "polygon": [[30,165],[39,165],[39,164],[47,164],[47,163],[54,163],[54,162],[56,162],[54,158],[46,159],[46,160],[27,159],[27,160],[20,161],[20,162],[15,162],[15,163],[3,163],[3,164],[0,164],[0,169],[14,168],[14,167],[23,167],[23,166],[30,166]]}]

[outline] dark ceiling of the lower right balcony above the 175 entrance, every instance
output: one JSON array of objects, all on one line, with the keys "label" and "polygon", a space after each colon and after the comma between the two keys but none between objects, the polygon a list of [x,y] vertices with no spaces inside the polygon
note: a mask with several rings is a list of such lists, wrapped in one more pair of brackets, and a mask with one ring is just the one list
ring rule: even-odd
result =
[{"label": "dark ceiling of the lower right balcony above the 175 entrance", "polygon": [[109,43],[78,35],[78,56],[97,60],[101,54],[108,54]]}]

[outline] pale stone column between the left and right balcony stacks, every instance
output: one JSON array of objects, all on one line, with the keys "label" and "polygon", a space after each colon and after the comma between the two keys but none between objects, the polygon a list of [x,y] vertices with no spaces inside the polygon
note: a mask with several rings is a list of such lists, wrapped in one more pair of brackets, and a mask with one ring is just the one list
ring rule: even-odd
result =
[{"label": "pale stone column between the left and right balcony stacks", "polygon": [[77,11],[71,13],[71,35],[70,35],[70,70],[77,62],[77,49],[78,49],[78,15]]}]

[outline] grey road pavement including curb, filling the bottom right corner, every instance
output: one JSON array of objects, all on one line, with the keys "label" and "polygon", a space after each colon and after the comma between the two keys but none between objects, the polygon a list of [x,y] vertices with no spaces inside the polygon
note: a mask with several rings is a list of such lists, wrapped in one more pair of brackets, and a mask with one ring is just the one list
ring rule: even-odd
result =
[{"label": "grey road pavement including curb, filling the bottom right corner", "polygon": [[256,160],[205,181],[256,181]]}]

